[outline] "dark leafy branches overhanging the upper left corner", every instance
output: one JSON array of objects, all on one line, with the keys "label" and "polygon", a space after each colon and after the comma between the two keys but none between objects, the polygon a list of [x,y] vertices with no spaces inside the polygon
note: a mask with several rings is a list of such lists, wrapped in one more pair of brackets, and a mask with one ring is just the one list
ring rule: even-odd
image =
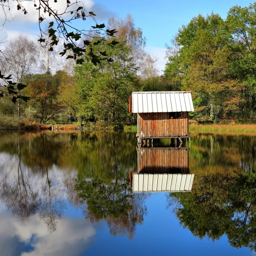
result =
[{"label": "dark leafy branches overhanging the upper left corner", "polygon": [[[28,14],[24,3],[31,2],[30,0],[14,1],[17,3],[17,10],[23,12],[25,15]],[[57,0],[54,0],[54,3],[56,2]],[[116,44],[118,44],[118,41],[112,40],[111,42],[106,42],[105,35],[114,37],[114,34],[117,31],[115,29],[105,30],[105,24],[97,24],[95,19],[96,14],[94,14],[92,11],[87,12],[81,1],[66,0],[66,7],[62,12],[58,12],[58,10],[54,7],[54,3],[52,3],[50,0],[34,1],[34,8],[38,10],[38,25],[40,30],[40,38],[38,41],[41,43],[41,46],[49,48],[50,51],[53,51],[54,46],[57,46],[60,42],[63,42],[63,51],[60,52],[60,55],[64,56],[66,53],[72,52],[72,54],[69,54],[66,58],[76,60],[76,64],[82,64],[86,59],[90,60],[94,65],[97,65],[97,63],[100,63],[101,61],[112,62],[112,58],[108,58],[108,54],[106,54],[106,52],[100,52],[98,55],[95,54],[92,46],[100,43],[106,43],[114,47]],[[9,12],[11,16],[12,10],[9,0],[0,0],[0,8],[2,8],[5,15],[4,23],[0,24],[0,28],[2,29],[7,20],[6,14]],[[42,22],[47,19],[46,16],[48,16],[48,18],[51,20],[54,20],[49,22],[47,33],[44,32],[44,29],[42,28]],[[73,25],[75,20],[82,19],[85,21],[89,17],[96,22],[96,25],[92,26],[90,30],[79,29]],[[47,37],[50,40],[46,40]],[[82,40],[84,38],[86,38],[86,40]],[[96,41],[95,38],[97,39]],[[28,97],[19,95],[19,91],[26,87],[24,84],[13,83],[12,81],[8,80],[11,79],[9,76],[7,76],[6,79],[5,76],[2,75],[0,79],[4,80],[1,87],[6,89],[0,90],[1,97],[4,96],[4,94],[12,95],[13,102],[16,102],[17,98],[21,98],[25,101],[29,99]]]}]

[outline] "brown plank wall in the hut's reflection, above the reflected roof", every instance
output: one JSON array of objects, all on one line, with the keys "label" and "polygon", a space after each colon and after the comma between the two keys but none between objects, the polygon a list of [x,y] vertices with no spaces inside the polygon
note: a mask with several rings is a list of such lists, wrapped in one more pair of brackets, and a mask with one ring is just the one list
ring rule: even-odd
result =
[{"label": "brown plank wall in the hut's reflection, above the reflected roof", "polygon": [[140,173],[189,173],[188,148],[140,148],[138,172]]}]

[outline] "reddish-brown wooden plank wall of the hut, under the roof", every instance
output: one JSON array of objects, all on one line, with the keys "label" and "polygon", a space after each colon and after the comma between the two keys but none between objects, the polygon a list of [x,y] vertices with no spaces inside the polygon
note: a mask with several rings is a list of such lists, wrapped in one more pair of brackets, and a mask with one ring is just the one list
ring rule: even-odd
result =
[{"label": "reddish-brown wooden plank wall of the hut, under the roof", "polygon": [[181,112],[177,119],[170,118],[169,112],[138,113],[137,122],[140,137],[188,135],[188,112]]}]

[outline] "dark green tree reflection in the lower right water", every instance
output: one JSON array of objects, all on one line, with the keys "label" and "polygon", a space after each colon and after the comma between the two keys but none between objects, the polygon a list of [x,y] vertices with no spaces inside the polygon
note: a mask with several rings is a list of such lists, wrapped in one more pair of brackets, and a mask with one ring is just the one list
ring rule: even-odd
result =
[{"label": "dark green tree reflection in the lower right water", "polygon": [[210,174],[194,182],[190,194],[170,194],[180,224],[194,236],[256,250],[256,171],[237,176]]}]

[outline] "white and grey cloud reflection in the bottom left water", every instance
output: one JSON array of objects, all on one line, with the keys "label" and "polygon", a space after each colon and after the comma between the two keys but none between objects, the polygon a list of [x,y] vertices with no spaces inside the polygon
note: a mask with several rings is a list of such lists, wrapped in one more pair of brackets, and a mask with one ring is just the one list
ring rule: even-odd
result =
[{"label": "white and grey cloud reflection in the bottom left water", "polygon": [[17,218],[0,215],[2,255],[80,255],[91,244],[95,234],[90,221],[84,219],[62,218],[56,232],[50,234],[38,215],[23,223]]}]

